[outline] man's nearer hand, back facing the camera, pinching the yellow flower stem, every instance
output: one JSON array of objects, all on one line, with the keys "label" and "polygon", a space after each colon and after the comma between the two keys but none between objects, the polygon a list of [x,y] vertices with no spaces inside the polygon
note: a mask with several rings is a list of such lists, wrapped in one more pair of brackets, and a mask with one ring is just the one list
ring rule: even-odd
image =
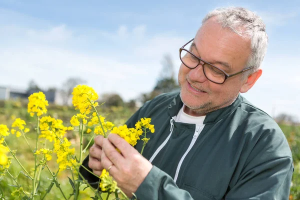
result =
[{"label": "man's nearer hand, back facing the camera, pinching the yellow flower stem", "polygon": [[103,139],[101,163],[106,169],[112,165],[109,173],[128,197],[132,197],[152,168],[146,158],[117,134]]}]

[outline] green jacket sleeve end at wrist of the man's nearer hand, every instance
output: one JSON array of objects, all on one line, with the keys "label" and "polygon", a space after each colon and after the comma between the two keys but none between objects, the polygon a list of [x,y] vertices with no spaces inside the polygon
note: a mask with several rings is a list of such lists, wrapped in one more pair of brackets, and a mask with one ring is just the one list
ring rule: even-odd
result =
[{"label": "green jacket sleeve end at wrist of the man's nearer hand", "polygon": [[137,199],[152,200],[191,200],[190,194],[177,187],[173,179],[164,171],[153,166],[143,182],[137,188]]}]

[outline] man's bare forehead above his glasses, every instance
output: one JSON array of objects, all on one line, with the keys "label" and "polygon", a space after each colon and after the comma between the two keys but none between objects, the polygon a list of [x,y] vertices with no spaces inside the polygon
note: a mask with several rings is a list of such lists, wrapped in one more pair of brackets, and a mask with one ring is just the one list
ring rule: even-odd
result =
[{"label": "man's bare forehead above his glasses", "polygon": [[242,69],[250,55],[250,40],[224,28],[215,18],[208,19],[193,40],[202,59],[227,62],[232,69]]}]

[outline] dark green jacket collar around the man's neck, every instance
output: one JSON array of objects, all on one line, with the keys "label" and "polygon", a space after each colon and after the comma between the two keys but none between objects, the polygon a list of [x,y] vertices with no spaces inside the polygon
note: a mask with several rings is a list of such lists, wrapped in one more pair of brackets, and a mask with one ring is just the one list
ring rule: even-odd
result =
[{"label": "dark green jacket collar around the man's neck", "polygon": [[[241,99],[242,96],[238,94],[237,98],[233,101],[231,105],[207,113],[203,123],[204,124],[214,123],[226,117],[239,106],[239,104],[241,103]],[[177,115],[178,111],[182,106],[183,106],[183,102],[181,101],[180,93],[177,93],[177,95],[171,100],[171,102],[168,105],[169,115],[171,117]]]}]

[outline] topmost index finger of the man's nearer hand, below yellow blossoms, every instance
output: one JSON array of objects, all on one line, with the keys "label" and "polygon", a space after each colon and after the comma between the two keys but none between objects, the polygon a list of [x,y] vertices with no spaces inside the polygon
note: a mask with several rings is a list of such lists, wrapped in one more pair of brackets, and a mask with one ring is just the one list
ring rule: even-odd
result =
[{"label": "topmost index finger of the man's nearer hand, below yellow blossoms", "polygon": [[136,152],[135,148],[133,148],[126,140],[124,140],[117,134],[109,134],[107,138],[115,147],[117,147],[121,151],[124,157],[132,156],[132,154]]}]

